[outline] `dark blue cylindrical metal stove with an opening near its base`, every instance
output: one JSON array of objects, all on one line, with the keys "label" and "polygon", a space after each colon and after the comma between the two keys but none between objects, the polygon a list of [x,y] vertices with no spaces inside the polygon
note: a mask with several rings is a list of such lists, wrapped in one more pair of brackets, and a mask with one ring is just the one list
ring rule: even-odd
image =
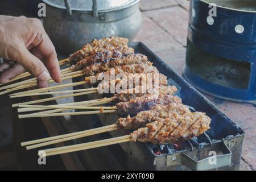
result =
[{"label": "dark blue cylindrical metal stove with an opening near its base", "polygon": [[255,57],[255,1],[191,0],[187,81],[213,96],[255,104]]}]

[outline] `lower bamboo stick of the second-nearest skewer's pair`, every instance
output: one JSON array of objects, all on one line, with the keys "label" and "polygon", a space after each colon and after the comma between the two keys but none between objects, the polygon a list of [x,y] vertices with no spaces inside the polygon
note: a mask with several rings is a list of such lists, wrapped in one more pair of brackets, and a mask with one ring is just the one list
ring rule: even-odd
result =
[{"label": "lower bamboo stick of the second-nearest skewer's pair", "polygon": [[73,137],[61,138],[61,139],[52,140],[52,141],[49,141],[49,142],[34,144],[32,146],[27,146],[26,148],[27,148],[27,150],[31,150],[31,149],[34,149],[34,148],[39,148],[39,147],[48,146],[48,145],[51,145],[51,144],[66,142],[66,141],[74,140],[74,139],[78,139],[78,138],[84,138],[84,137],[88,137],[88,136],[91,136],[91,135],[97,135],[97,134],[106,133],[106,132],[114,131],[114,130],[118,130],[118,129],[119,129],[118,126],[109,127],[108,129],[101,129],[101,130],[97,130],[97,131],[93,131],[93,132],[85,132],[84,134],[75,135]]}]

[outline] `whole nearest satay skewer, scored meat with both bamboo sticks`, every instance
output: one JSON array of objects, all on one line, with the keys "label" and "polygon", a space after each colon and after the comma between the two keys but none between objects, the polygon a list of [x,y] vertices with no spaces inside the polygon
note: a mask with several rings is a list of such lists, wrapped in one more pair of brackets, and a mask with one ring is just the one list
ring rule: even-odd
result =
[{"label": "whole nearest satay skewer, scored meat with both bamboo sticks", "polygon": [[46,156],[51,156],[129,141],[152,142],[155,144],[182,142],[203,134],[210,129],[209,125],[210,118],[204,113],[203,115],[201,113],[184,114],[177,119],[158,118],[154,122],[148,123],[146,127],[140,127],[133,131],[130,135],[98,140],[96,142],[75,144],[72,146],[51,148],[39,151],[39,153],[44,152]]}]

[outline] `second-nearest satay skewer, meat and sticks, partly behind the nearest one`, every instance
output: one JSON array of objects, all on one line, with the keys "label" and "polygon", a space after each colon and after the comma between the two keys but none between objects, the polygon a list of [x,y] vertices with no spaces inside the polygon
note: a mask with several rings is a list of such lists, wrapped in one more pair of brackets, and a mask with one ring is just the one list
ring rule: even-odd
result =
[{"label": "second-nearest satay skewer, meat and sticks, partly behind the nearest one", "polygon": [[[118,129],[126,129],[126,130],[136,130],[139,127],[145,126],[147,123],[158,120],[159,118],[170,118],[173,121],[177,121],[177,123],[180,123],[180,121],[182,121],[186,117],[188,117],[187,119],[189,119],[189,116],[192,118],[201,117],[201,118],[208,119],[208,117],[204,113],[200,113],[200,112],[191,113],[189,108],[183,104],[156,105],[150,108],[150,110],[144,110],[139,112],[137,115],[135,115],[132,118],[130,117],[130,115],[128,115],[126,118],[119,118],[118,121],[113,125],[98,127],[97,129],[93,129],[93,131],[97,130],[98,131],[97,134],[105,133],[105,129],[106,128],[109,129],[110,127],[113,127],[113,128],[118,127]],[[89,133],[91,133],[91,130],[82,131],[82,134],[88,134],[86,136],[89,136]],[[74,135],[77,135],[77,138],[80,138],[78,137],[80,134],[81,132],[65,134],[65,135],[60,135],[60,136],[50,137],[50,138],[44,138],[40,140],[34,140],[32,141],[32,143],[30,142],[26,145],[41,143],[41,146],[43,145],[46,146],[48,145],[48,143],[43,143],[43,142],[48,142],[49,140],[52,140],[51,144],[55,144],[55,143],[59,143],[59,140],[57,139],[65,138],[65,141],[67,141],[72,139],[69,137],[73,137]],[[92,133],[91,135],[94,135],[94,134]],[[53,142],[53,140],[56,140],[56,142]]]}]

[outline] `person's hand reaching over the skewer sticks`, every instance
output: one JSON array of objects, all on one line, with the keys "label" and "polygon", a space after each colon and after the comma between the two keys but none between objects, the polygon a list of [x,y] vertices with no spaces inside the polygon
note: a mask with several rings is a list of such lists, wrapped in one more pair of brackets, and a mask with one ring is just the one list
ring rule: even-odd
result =
[{"label": "person's hand reaching over the skewer sticks", "polygon": [[55,47],[39,19],[0,15],[0,24],[0,57],[15,62],[0,64],[0,84],[25,70],[36,77],[39,88],[48,86],[50,75],[61,81]]}]

